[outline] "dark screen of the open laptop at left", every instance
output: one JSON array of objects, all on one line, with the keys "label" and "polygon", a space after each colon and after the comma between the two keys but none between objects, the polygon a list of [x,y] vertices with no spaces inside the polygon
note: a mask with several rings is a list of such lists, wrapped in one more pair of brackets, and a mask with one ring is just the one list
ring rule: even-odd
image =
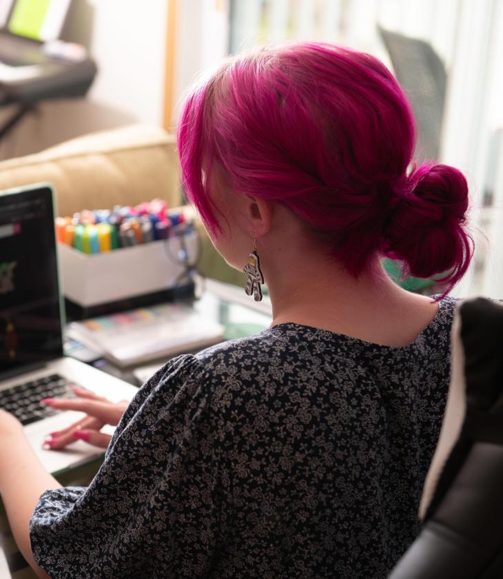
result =
[{"label": "dark screen of the open laptop at left", "polygon": [[62,355],[52,190],[0,192],[0,374]]}]

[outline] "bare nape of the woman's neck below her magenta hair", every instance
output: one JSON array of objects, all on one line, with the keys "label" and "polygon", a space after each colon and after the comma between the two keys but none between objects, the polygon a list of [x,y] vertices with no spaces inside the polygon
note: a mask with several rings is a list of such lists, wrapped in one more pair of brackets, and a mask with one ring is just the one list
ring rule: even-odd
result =
[{"label": "bare nape of the woman's neck below her magenta hair", "polygon": [[[358,278],[327,258],[265,260],[272,325],[298,323],[387,345],[407,345],[438,305],[393,283],[378,258]],[[300,274],[299,274],[300,272]]]}]

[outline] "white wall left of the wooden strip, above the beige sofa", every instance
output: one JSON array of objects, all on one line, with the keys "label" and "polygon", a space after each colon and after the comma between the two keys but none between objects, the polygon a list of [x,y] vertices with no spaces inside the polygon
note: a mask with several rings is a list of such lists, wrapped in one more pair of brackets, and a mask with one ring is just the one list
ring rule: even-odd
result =
[{"label": "white wall left of the wooden strip, above the beige sofa", "polygon": [[[85,99],[45,101],[0,142],[0,159],[132,123],[163,125],[167,3],[74,0],[63,39],[85,45],[99,73]],[[12,107],[0,109],[0,123]]]}]

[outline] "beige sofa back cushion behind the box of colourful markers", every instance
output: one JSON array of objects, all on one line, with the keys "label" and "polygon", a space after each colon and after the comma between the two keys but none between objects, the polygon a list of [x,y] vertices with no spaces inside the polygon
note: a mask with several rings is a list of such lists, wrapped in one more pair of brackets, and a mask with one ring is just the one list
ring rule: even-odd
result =
[{"label": "beige sofa back cushion behind the box of colourful markers", "polygon": [[180,205],[175,137],[146,125],[87,134],[0,163],[0,190],[48,182],[59,215],[136,205],[160,197]]}]

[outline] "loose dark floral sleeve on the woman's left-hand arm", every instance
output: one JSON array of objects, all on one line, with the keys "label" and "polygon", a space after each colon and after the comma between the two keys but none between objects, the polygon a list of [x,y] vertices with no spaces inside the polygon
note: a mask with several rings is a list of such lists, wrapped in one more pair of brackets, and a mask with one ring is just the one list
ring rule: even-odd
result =
[{"label": "loose dark floral sleeve on the woman's left-hand arm", "polygon": [[207,573],[221,475],[207,378],[194,356],[171,360],[138,390],[89,487],[42,494],[30,538],[52,578]]}]

